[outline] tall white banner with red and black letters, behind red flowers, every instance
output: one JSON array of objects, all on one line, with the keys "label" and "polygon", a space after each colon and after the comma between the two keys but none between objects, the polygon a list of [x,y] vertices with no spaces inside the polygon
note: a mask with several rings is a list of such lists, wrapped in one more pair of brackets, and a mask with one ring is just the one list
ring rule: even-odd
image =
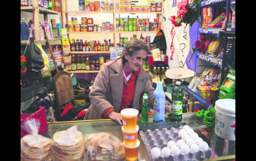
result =
[{"label": "tall white banner with red and black letters, behind red flowers", "polygon": [[164,2],[164,22],[163,32],[165,34],[168,55],[168,65],[170,68],[188,68],[186,58],[190,51],[189,25],[182,23],[182,26],[175,27],[170,21],[171,16],[177,16],[177,4],[181,0],[165,0]]}]

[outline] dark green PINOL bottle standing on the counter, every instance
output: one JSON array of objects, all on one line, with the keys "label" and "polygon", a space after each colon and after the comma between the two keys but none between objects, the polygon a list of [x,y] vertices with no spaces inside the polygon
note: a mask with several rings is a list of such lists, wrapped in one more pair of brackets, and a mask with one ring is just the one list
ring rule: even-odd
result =
[{"label": "dark green PINOL bottle standing on the counter", "polygon": [[182,121],[183,96],[184,94],[181,87],[181,82],[177,81],[172,93],[172,113],[170,117],[171,121]]}]

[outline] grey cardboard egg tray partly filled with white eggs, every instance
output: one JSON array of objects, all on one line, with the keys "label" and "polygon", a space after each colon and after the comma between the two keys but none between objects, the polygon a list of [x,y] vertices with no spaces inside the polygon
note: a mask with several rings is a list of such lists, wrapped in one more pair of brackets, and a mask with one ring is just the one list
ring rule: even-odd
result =
[{"label": "grey cardboard egg tray partly filled with white eggs", "polygon": [[[178,132],[180,129],[172,127],[170,130],[167,128],[163,128],[163,130],[155,129],[154,131],[147,130],[146,132],[140,131],[140,136],[142,137],[143,142],[146,145],[146,149],[150,155],[151,149],[154,147],[160,148],[162,150],[164,147],[167,147],[167,143],[171,140],[177,142],[181,139],[178,136]],[[196,160],[203,160],[209,159],[212,154],[212,150],[208,148],[206,151],[199,150],[196,153],[189,153],[187,155],[179,154],[178,156],[169,155],[165,157],[163,154],[160,155],[159,158],[153,158],[151,155],[152,161],[196,161]]]}]

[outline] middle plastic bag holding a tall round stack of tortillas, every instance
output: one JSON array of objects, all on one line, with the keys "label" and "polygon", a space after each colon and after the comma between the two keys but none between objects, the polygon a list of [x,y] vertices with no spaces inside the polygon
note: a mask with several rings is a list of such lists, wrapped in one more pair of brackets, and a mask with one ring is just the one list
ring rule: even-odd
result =
[{"label": "middle plastic bag holding a tall round stack of tortillas", "polygon": [[84,139],[83,134],[74,125],[67,130],[56,132],[53,136],[53,160],[83,161]]}]

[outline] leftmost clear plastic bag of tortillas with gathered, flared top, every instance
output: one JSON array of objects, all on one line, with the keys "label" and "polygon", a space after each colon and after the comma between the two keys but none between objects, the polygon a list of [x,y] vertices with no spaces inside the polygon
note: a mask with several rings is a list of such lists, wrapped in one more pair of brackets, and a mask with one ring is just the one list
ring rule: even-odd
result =
[{"label": "leftmost clear plastic bag of tortillas with gathered, flared top", "polygon": [[52,140],[38,134],[40,120],[28,119],[21,127],[30,133],[21,138],[21,160],[50,160]]}]

